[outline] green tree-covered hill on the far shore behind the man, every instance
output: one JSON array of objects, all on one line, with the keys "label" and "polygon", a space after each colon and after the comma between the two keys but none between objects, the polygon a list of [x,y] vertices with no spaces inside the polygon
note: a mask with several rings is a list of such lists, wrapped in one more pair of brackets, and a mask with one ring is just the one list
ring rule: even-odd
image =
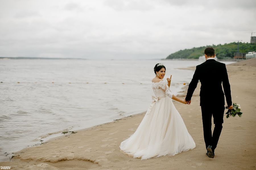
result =
[{"label": "green tree-covered hill on the far shore behind the man", "polygon": [[[175,58],[199,58],[200,56],[204,55],[204,50],[207,46],[203,47],[197,47],[197,48],[191,48],[191,49],[185,49],[185,50],[179,50],[173,54],[170,54],[166,59],[175,59]],[[237,52],[238,43],[232,42],[229,44],[218,44],[218,45],[212,45],[212,47],[215,49],[215,54],[218,59],[223,59],[226,57],[233,58],[234,53]],[[250,44],[250,43],[242,43],[239,42],[239,52],[250,52],[250,51],[256,51],[256,44]]]}]

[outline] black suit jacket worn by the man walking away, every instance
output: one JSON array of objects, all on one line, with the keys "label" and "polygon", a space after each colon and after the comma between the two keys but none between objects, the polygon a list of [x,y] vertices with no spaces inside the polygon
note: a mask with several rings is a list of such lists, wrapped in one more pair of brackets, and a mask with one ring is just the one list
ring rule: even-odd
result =
[{"label": "black suit jacket worn by the man walking away", "polygon": [[200,90],[200,106],[209,105],[225,105],[224,93],[228,106],[232,105],[230,84],[228,81],[228,73],[226,65],[215,61],[215,59],[208,59],[204,63],[197,65],[194,76],[189,84],[187,90],[186,101],[191,100],[193,92],[197,87],[198,80],[201,82]]}]

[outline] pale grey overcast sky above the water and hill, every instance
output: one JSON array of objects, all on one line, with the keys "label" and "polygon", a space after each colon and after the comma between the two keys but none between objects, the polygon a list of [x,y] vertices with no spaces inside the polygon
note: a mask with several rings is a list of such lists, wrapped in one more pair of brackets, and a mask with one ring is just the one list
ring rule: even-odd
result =
[{"label": "pale grey overcast sky above the water and hill", "polygon": [[0,0],[0,56],[161,59],[249,42],[255,11],[255,0]]}]

